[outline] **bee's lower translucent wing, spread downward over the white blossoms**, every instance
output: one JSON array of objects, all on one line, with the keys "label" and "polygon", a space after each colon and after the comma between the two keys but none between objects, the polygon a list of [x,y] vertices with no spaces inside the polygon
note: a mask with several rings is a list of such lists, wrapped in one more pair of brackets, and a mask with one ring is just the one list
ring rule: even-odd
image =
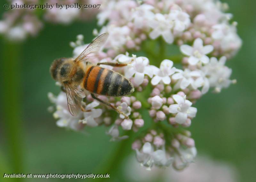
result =
[{"label": "bee's lower translucent wing, spread downward over the white blossoms", "polygon": [[71,115],[76,116],[81,112],[82,100],[85,94],[72,84],[64,84],[67,92],[68,109]]}]

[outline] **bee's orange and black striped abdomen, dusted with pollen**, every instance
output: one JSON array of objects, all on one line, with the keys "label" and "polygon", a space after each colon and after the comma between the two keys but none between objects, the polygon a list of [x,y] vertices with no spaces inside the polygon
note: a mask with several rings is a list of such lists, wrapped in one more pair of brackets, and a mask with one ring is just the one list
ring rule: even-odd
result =
[{"label": "bee's orange and black striped abdomen, dusted with pollen", "polygon": [[92,93],[107,96],[123,96],[134,91],[132,83],[123,75],[98,66],[87,69],[84,88]]}]

